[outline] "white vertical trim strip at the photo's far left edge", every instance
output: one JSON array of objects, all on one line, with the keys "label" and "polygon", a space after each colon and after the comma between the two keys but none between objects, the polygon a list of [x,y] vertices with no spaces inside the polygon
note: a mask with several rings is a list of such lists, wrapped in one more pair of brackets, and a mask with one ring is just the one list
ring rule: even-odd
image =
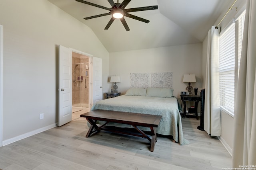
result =
[{"label": "white vertical trim strip at the photo's far left edge", "polygon": [[3,145],[3,25],[0,25],[0,147]]}]

